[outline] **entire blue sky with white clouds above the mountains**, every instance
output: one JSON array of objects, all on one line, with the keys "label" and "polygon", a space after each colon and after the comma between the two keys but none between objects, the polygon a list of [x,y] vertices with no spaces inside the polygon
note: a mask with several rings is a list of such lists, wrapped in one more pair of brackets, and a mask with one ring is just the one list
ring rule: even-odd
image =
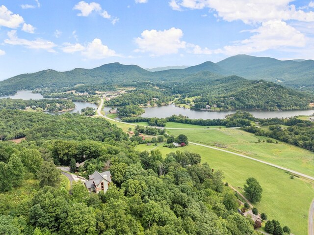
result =
[{"label": "entire blue sky with white clouds above the mountains", "polygon": [[314,59],[313,0],[0,0],[0,80],[235,54]]}]

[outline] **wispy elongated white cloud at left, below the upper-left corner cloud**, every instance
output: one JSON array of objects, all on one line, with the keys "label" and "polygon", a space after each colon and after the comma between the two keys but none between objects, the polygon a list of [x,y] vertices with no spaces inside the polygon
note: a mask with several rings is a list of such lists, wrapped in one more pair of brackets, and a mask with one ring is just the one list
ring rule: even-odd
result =
[{"label": "wispy elongated white cloud at left, below the upper-left corner cloud", "polygon": [[55,52],[53,50],[56,45],[48,40],[44,40],[41,38],[35,39],[33,41],[27,39],[21,39],[17,37],[16,30],[11,30],[8,32],[8,39],[4,40],[4,43],[10,45],[20,45],[24,46],[28,49],[42,49],[46,50],[47,52]]}]

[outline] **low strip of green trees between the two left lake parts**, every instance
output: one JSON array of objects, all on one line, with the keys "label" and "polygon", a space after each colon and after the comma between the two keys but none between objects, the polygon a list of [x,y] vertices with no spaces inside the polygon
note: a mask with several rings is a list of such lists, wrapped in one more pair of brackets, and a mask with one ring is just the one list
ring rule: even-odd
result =
[{"label": "low strip of green trees between the two left lake parts", "polygon": [[75,108],[75,104],[68,100],[22,100],[22,99],[0,99],[0,109],[20,109],[26,108],[36,110],[41,108],[44,111],[57,112]]}]

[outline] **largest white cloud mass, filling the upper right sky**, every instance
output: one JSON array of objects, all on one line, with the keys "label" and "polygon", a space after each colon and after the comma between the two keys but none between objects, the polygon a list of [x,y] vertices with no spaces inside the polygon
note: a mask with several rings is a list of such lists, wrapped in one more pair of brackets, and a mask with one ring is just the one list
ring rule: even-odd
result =
[{"label": "largest white cloud mass, filling the upper right sky", "polygon": [[[210,53],[251,53],[263,52],[270,49],[286,50],[290,48],[306,47],[309,38],[301,27],[294,27],[293,22],[314,22],[313,11],[303,11],[314,7],[314,1],[308,6],[296,9],[291,4],[293,0],[170,0],[169,5],[174,10],[208,8],[219,20],[227,22],[242,21],[255,27],[249,30],[252,36],[231,43],[220,49],[202,49],[198,45],[190,44],[188,50],[195,54]],[[303,27],[304,28],[304,27]],[[192,45],[192,46],[191,46]]]}]

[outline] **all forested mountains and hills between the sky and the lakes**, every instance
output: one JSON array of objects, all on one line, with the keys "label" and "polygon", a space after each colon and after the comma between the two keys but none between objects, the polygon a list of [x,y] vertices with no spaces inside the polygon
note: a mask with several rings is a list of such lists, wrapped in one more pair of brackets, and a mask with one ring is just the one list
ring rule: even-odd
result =
[{"label": "all forested mountains and hills between the sky and the lakes", "polygon": [[[236,75],[236,76],[235,76]],[[241,76],[243,78],[237,77]],[[262,81],[261,81],[262,79]],[[275,83],[268,83],[272,81]],[[314,61],[281,61],[273,58],[236,55],[218,63],[205,62],[185,69],[149,72],[136,65],[105,64],[94,69],[77,68],[67,72],[45,70],[19,75],[0,82],[0,95],[11,95],[18,90],[46,88],[49,92],[75,89],[93,93],[113,90],[116,87],[135,87],[141,91],[137,97],[157,88],[158,96],[149,94],[137,99],[158,98],[168,101],[173,95],[202,96],[204,105],[219,103],[221,109],[304,109],[313,97],[301,94],[282,85],[294,87],[314,85]],[[135,104],[134,94],[126,103],[124,98],[116,104]],[[205,100],[204,100],[205,99]],[[150,100],[147,100],[149,102]],[[207,104],[206,104],[207,102]],[[111,102],[112,103],[112,102]]]}]

